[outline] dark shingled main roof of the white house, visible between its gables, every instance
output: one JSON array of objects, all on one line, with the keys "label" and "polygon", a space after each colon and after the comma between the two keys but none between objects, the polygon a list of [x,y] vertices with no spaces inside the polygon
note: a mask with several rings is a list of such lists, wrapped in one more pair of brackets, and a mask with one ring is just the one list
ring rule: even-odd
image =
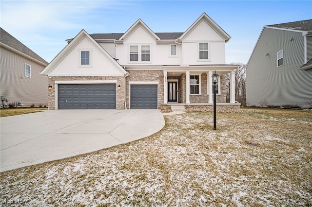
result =
[{"label": "dark shingled main roof of the white house, visible between its gables", "polygon": [[[92,34],[94,39],[119,39],[124,33],[97,33]],[[176,39],[183,33],[155,33],[160,39]]]}]

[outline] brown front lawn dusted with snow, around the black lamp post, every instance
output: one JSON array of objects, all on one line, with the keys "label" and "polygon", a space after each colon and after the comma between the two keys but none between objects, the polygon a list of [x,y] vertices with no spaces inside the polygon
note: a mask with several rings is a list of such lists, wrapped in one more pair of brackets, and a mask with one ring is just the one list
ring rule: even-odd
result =
[{"label": "brown front lawn dusted with snow, around the black lamp post", "polygon": [[[312,206],[312,111],[167,116],[128,144],[0,173],[8,206]],[[87,138],[87,137],[86,137]]]}]

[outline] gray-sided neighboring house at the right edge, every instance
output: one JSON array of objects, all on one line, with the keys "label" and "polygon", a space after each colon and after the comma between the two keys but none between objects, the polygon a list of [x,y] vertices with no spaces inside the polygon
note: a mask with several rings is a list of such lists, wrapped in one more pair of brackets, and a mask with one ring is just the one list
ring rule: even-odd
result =
[{"label": "gray-sided neighboring house at the right edge", "polygon": [[246,70],[249,105],[310,107],[312,19],[263,27]]}]

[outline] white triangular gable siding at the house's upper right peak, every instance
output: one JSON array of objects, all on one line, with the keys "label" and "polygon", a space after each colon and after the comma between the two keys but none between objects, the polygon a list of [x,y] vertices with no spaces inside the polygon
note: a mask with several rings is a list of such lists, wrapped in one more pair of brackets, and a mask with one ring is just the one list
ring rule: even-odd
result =
[{"label": "white triangular gable siding at the house's upper right peak", "polygon": [[184,40],[221,40],[223,38],[205,21],[202,20]]}]

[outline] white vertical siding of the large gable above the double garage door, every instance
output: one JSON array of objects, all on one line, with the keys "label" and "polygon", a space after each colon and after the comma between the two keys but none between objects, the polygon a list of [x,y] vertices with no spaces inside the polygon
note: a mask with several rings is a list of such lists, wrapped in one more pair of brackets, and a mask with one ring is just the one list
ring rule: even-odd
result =
[{"label": "white vertical siding of the large gable above the double garage door", "polygon": [[[80,66],[80,51],[90,51],[90,67]],[[113,60],[115,61],[115,60]],[[93,42],[84,37],[49,76],[123,75]]]}]

